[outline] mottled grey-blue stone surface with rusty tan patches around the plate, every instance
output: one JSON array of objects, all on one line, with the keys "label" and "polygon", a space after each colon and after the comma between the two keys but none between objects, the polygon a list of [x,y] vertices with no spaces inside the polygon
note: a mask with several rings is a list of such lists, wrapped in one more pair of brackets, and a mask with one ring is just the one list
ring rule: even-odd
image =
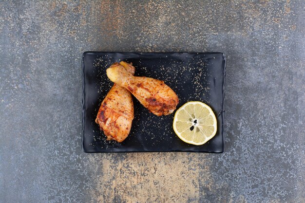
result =
[{"label": "mottled grey-blue stone surface with rusty tan patches around the plate", "polygon": [[[0,1],[0,203],[305,203],[303,0]],[[223,154],[85,154],[84,51],[223,52]]]}]

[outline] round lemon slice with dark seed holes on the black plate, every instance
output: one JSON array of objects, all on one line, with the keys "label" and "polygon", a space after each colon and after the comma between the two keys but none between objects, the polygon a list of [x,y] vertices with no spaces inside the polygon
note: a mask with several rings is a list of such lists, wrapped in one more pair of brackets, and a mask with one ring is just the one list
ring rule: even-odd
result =
[{"label": "round lemon slice with dark seed holes on the black plate", "polygon": [[191,101],[176,111],[172,127],[184,142],[203,145],[216,134],[217,121],[208,105]]}]

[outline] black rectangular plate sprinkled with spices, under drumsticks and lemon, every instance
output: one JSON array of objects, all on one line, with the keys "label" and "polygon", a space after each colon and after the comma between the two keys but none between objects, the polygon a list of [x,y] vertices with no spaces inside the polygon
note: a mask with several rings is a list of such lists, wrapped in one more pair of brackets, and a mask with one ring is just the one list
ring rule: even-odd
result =
[{"label": "black rectangular plate sprinkled with spices, under drumsticks and lemon", "polygon": [[[132,62],[135,75],[163,80],[179,97],[177,109],[188,101],[209,105],[217,118],[216,135],[201,146],[178,138],[172,129],[174,113],[156,116],[134,97],[134,119],[130,134],[122,143],[107,141],[95,117],[113,85],[106,69],[114,62]],[[82,147],[84,152],[224,151],[225,70],[222,53],[122,53],[85,52],[82,60]]]}]

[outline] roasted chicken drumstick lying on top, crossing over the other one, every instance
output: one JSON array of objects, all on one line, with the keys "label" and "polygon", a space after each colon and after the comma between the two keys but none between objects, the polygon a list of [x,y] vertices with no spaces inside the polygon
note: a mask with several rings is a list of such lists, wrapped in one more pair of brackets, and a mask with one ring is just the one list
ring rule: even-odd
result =
[{"label": "roasted chicken drumstick lying on top, crossing over the other one", "polygon": [[157,116],[171,114],[179,103],[178,96],[163,81],[133,76],[119,66],[106,70],[108,78],[132,92],[140,103]]}]

